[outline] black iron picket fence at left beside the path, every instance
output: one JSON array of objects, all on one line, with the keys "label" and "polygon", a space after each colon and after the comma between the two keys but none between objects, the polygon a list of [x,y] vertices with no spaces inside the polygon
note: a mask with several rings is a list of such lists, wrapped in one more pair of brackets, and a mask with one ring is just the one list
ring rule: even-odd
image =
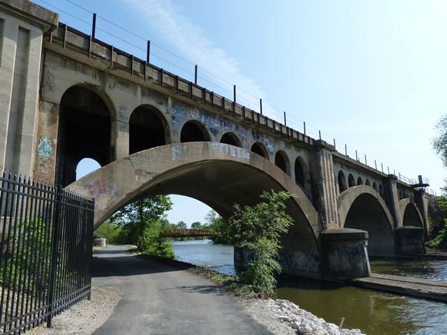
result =
[{"label": "black iron picket fence at left beside the path", "polygon": [[94,201],[3,172],[0,333],[21,334],[90,297]]}]

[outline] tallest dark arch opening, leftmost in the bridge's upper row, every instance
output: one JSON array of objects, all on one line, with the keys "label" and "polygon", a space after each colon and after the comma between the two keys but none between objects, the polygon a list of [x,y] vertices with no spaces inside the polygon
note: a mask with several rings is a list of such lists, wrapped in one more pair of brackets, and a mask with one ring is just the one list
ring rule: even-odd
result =
[{"label": "tallest dark arch opening, leftmost in the bridge's upper row", "polygon": [[110,110],[95,91],[82,85],[65,91],[59,105],[56,184],[75,181],[82,158],[110,163],[110,125]]}]

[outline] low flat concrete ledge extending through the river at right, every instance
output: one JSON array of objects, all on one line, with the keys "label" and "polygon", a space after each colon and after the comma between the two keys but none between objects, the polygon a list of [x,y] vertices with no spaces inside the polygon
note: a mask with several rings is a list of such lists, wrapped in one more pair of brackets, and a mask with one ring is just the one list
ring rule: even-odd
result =
[{"label": "low flat concrete ledge extending through the river at right", "polygon": [[447,302],[447,282],[445,281],[430,281],[390,274],[372,274],[370,277],[358,278],[352,283],[362,288]]}]

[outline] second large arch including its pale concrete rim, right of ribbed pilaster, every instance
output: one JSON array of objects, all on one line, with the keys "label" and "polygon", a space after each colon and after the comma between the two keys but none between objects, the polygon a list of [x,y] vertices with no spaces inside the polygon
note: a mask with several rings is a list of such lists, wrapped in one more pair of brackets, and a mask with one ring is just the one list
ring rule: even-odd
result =
[{"label": "second large arch including its pale concrete rim, right of ribbed pilaster", "polygon": [[342,227],[368,232],[369,255],[395,253],[393,216],[374,188],[365,185],[348,188],[340,194],[337,207]]}]

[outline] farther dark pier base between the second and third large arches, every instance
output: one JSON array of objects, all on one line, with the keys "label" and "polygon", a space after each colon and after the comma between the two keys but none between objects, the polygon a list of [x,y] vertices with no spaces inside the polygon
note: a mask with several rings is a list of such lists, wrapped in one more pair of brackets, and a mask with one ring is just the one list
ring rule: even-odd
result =
[{"label": "farther dark pier base between the second and third large arches", "polygon": [[398,227],[395,229],[397,255],[425,253],[424,229],[419,227]]}]

